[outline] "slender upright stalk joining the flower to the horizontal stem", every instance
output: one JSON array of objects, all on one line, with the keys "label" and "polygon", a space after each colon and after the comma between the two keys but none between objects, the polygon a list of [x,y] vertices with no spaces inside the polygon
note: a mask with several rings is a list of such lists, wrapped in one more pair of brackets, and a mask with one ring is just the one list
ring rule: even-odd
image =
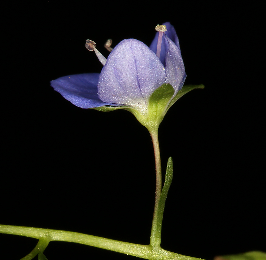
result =
[{"label": "slender upright stalk joining the flower to the horizontal stem", "polygon": [[162,193],[162,167],[161,167],[161,156],[159,149],[159,139],[158,139],[158,128],[156,130],[150,131],[154,149],[155,157],[155,172],[156,172],[156,189],[155,189],[155,205],[152,219],[152,231],[150,238],[150,245],[152,247],[159,247],[161,244],[161,224],[158,218],[158,206]]}]

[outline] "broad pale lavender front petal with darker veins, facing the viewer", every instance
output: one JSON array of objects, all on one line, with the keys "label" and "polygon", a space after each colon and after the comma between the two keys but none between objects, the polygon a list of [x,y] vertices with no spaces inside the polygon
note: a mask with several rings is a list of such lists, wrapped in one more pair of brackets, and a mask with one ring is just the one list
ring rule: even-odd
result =
[{"label": "broad pale lavender front petal with darker veins, facing the viewer", "polygon": [[102,101],[142,112],[149,96],[165,83],[165,68],[155,53],[135,39],[121,41],[110,53],[98,82]]}]

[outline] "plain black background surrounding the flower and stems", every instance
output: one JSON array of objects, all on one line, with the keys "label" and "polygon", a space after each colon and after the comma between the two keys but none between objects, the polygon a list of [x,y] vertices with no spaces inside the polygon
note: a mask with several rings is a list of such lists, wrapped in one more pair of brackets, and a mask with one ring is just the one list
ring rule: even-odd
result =
[{"label": "plain black background surrounding the flower and stems", "polygon": [[[159,129],[163,170],[173,157],[162,247],[183,255],[265,251],[265,83],[262,7],[234,2],[174,4],[37,1],[8,6],[2,74],[0,223],[76,231],[148,244],[155,170],[148,131],[131,113],[80,109],[49,81],[100,72],[85,40],[149,45],[157,24],[179,36],[186,84]],[[3,93],[3,92],[2,92]],[[1,259],[17,260],[36,240],[0,234]],[[9,254],[9,256],[7,256]],[[137,259],[51,242],[53,259]]]}]

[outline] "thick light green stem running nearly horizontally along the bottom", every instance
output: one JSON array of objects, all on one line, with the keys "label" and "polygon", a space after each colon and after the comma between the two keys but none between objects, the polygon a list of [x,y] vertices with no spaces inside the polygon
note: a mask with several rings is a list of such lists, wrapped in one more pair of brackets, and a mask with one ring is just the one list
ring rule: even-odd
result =
[{"label": "thick light green stem running nearly horizontally along the bottom", "polygon": [[33,237],[36,239],[45,240],[46,243],[49,243],[49,241],[66,241],[66,242],[74,242],[79,244],[86,244],[150,260],[165,260],[165,259],[199,260],[199,258],[179,255],[164,250],[161,247],[155,248],[148,245],[127,243],[104,237],[96,237],[92,235],[70,232],[70,231],[35,228],[35,227],[0,225],[0,233]]}]

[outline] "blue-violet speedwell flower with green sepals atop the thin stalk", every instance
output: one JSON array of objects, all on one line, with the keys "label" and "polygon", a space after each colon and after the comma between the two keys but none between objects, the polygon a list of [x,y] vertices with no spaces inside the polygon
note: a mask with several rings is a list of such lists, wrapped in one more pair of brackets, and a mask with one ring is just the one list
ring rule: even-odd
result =
[{"label": "blue-violet speedwell flower with green sepals atop the thin stalk", "polygon": [[148,129],[158,127],[170,106],[178,99],[185,78],[179,40],[170,23],[156,26],[150,47],[135,39],[118,43],[106,59],[95,50],[104,65],[100,74],[70,75],[51,81],[65,99],[81,108],[100,111],[126,109]]}]

